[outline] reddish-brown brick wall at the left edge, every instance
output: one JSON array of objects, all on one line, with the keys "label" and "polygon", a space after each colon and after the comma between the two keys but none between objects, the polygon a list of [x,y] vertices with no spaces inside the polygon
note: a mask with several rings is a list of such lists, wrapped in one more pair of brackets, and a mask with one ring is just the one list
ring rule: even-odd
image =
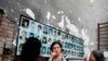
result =
[{"label": "reddish-brown brick wall at the left edge", "polygon": [[14,38],[15,23],[9,21],[6,17],[0,17],[0,61],[8,61],[8,57],[3,54],[4,47],[12,48]]}]

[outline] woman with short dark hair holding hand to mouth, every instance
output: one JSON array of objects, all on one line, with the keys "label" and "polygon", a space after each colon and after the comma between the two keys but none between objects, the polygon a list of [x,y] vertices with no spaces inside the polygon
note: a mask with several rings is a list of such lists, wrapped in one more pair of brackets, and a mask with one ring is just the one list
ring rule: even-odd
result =
[{"label": "woman with short dark hair holding hand to mouth", "polygon": [[66,61],[66,59],[63,56],[62,49],[63,46],[59,41],[54,41],[51,45],[51,57],[49,59],[49,61]]}]

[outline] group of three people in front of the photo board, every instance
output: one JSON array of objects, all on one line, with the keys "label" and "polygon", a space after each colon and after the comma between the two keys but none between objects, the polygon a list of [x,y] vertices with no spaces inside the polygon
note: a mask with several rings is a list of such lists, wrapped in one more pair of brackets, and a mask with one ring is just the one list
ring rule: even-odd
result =
[{"label": "group of three people in front of the photo board", "polygon": [[[51,45],[51,57],[45,60],[40,56],[41,41],[38,38],[29,37],[23,45],[19,60],[14,61],[67,61],[63,54],[63,46],[60,41],[54,41]],[[83,61],[105,61],[104,54],[99,51],[93,50],[90,58]]]}]

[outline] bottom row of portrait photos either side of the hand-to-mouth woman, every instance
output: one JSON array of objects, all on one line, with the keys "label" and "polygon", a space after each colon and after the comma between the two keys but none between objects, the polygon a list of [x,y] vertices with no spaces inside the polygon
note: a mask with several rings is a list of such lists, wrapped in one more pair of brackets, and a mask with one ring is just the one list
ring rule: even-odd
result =
[{"label": "bottom row of portrait photos either side of the hand-to-mouth woman", "polygon": [[[83,57],[84,56],[84,52],[82,51],[73,51],[73,50],[69,50],[69,49],[63,49],[63,53],[65,54],[65,57],[68,57],[68,56],[72,56],[72,57]],[[51,54],[51,51],[50,51],[50,47],[46,47],[46,46],[42,46],[41,48],[41,54],[48,54],[50,56]]]}]

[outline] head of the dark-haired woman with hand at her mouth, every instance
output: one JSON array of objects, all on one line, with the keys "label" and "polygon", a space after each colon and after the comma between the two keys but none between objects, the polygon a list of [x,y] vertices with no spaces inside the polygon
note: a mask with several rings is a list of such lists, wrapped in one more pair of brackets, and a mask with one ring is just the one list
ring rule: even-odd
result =
[{"label": "head of the dark-haired woman with hand at her mouth", "polygon": [[56,52],[56,56],[60,54],[63,50],[63,46],[60,44],[60,41],[54,41],[51,45],[51,51],[52,52]]}]

